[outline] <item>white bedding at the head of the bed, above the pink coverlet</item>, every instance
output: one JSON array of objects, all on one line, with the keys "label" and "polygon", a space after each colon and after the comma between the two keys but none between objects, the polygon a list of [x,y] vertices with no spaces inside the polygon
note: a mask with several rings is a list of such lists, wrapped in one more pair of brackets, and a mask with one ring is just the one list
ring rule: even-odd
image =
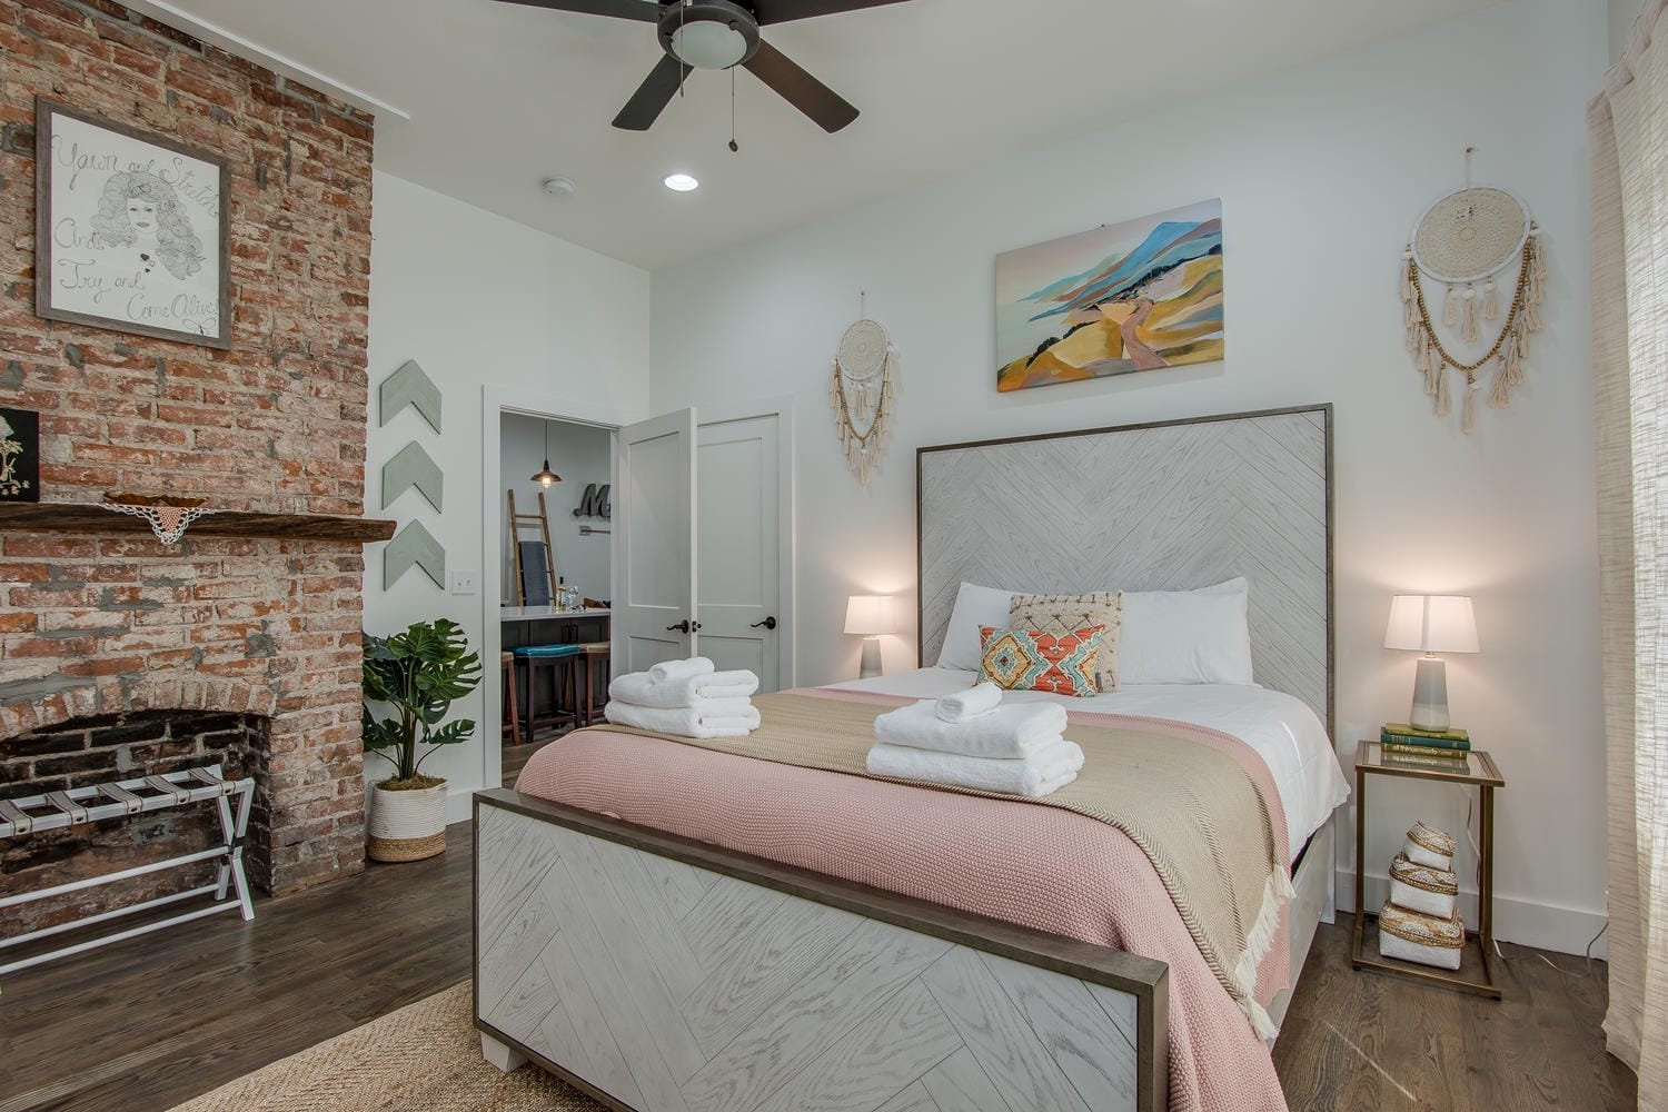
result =
[{"label": "white bedding at the head of the bed, above the pink coverlet", "polygon": [[[881,695],[937,699],[972,685],[972,672],[917,669],[872,680],[831,684],[831,687]],[[1274,777],[1286,809],[1291,855],[1303,850],[1333,810],[1349,799],[1349,784],[1338,764],[1326,727],[1294,695],[1238,684],[1154,684],[1126,685],[1109,695],[1071,699],[1051,692],[1002,692],[1002,700],[1058,702],[1068,710],[1133,714],[1174,719],[1238,737],[1261,754]]]}]

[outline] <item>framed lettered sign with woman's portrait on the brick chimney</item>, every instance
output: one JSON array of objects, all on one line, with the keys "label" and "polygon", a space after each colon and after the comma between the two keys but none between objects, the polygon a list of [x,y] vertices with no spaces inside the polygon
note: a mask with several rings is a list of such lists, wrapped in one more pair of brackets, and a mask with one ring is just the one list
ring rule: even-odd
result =
[{"label": "framed lettered sign with woman's portrait on the brick chimney", "polygon": [[35,98],[35,312],[232,347],[227,162]]}]

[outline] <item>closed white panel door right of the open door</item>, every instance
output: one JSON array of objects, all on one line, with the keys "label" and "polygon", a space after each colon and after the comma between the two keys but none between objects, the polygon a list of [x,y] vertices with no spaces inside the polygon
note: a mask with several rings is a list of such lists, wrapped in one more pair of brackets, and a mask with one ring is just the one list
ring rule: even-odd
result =
[{"label": "closed white panel door right of the open door", "polygon": [[701,655],[719,670],[756,672],[766,692],[792,679],[779,423],[769,413],[704,423],[696,433]]}]

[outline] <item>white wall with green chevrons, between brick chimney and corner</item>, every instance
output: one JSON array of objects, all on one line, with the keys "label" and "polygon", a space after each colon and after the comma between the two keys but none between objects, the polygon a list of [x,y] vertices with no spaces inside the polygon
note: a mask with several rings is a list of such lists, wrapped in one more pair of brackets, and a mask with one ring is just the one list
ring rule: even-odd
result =
[{"label": "white wall with green chevrons, between brick chimney and corner", "polygon": [[[497,530],[482,527],[482,387],[565,398],[622,420],[642,417],[649,275],[389,173],[375,175],[374,190],[365,512],[402,527],[422,522],[445,545],[449,569],[479,574],[499,559]],[[440,435],[415,408],[380,423],[377,383],[407,358],[445,395]],[[382,463],[412,440],[445,470],[444,513],[415,490],[382,508]],[[449,617],[479,647],[497,605],[484,594],[447,594],[420,569],[384,589],[382,548],[365,550],[365,629],[374,634]],[[499,684],[495,660],[485,684]],[[454,822],[467,815],[469,792],[482,787],[482,745],[499,744],[497,724],[482,722],[484,705],[484,689],[459,704],[455,714],[479,722],[475,737],[424,765],[450,780]],[[367,757],[370,777],[380,779],[385,767]]]}]

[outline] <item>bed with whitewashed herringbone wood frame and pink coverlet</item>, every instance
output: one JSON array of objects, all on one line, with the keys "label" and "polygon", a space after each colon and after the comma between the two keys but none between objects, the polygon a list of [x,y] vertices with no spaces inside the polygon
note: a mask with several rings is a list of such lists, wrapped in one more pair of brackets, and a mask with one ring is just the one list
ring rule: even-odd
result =
[{"label": "bed with whitewashed herringbone wood frame and pink coverlet", "polygon": [[[641,1112],[1281,1107],[1234,1005],[1278,1025],[1331,919],[1329,462],[1328,407],[917,457],[922,662],[962,582],[1251,580],[1256,687],[1071,702],[1079,732],[1161,727],[1258,770],[1291,900],[1249,970],[1254,1004],[1186,945],[1191,917],[1133,839],[1081,815],[869,780],[834,757],[585,730],[542,750],[517,792],[475,800],[487,1057]],[[872,725],[971,679],[922,667],[779,695],[767,727],[822,720],[834,754],[854,744],[837,722]]]}]

